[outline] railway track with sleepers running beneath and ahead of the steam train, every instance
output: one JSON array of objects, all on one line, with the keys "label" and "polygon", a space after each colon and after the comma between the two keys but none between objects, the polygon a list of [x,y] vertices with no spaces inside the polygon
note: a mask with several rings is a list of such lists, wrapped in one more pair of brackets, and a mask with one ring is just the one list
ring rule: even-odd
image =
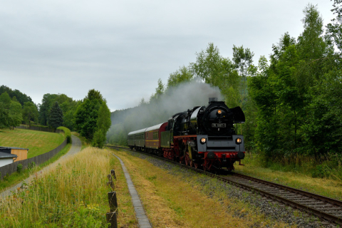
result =
[{"label": "railway track with sleepers running beneath and ahead of the steam train", "polygon": [[[107,147],[130,150],[128,147],[117,147],[109,145]],[[182,167],[194,170],[195,172],[200,172],[204,175],[214,177],[217,180],[221,180],[222,182],[227,182],[237,187],[242,187],[245,190],[259,193],[264,197],[275,200],[277,202],[281,202],[282,204],[300,209],[309,214],[314,214],[316,217],[325,219],[328,222],[342,225],[342,201],[340,200],[316,195],[314,193],[306,192],[303,190],[297,190],[293,187],[279,185],[274,182],[268,182],[242,174],[232,173],[232,175],[227,176],[216,175],[211,172],[204,172],[203,170],[196,169],[195,167],[190,167],[188,165],[180,164],[179,162],[165,159],[164,157],[158,157],[156,155],[151,155],[148,153],[145,154],[152,157],[157,157],[161,160],[166,160],[167,162],[175,163]]]}]

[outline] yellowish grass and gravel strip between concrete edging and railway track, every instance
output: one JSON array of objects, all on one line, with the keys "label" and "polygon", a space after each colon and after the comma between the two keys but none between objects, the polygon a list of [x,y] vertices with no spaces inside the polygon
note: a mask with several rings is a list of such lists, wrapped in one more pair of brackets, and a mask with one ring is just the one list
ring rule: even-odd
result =
[{"label": "yellowish grass and gravel strip between concrete edging and railway track", "polygon": [[153,227],[321,227],[315,217],[134,151],[116,152]]}]

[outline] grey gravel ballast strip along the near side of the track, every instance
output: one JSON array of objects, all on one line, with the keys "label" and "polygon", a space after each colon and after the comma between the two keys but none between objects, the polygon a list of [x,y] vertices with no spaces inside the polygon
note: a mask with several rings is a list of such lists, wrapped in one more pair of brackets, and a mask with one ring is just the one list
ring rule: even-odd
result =
[{"label": "grey gravel ballast strip along the near side of the track", "polygon": [[[305,212],[300,212],[299,210],[295,210],[291,207],[287,207],[284,204],[279,204],[276,202],[271,201],[270,199],[266,199],[261,197],[260,195],[253,194],[247,190],[242,190],[239,187],[235,187],[234,185],[229,185],[224,182],[219,182],[219,186],[214,183],[211,177],[207,177],[204,175],[199,175],[197,172],[192,170],[186,170],[182,168],[177,168],[176,165],[164,162],[162,160],[158,160],[154,157],[150,157],[138,152],[134,151],[127,151],[130,155],[140,157],[142,159],[148,160],[153,165],[160,167],[164,170],[167,170],[171,175],[177,175],[180,177],[190,177],[196,178],[199,185],[205,187],[207,191],[203,191],[208,197],[212,197],[214,192],[219,191],[222,194],[222,190],[225,192],[226,195],[229,196],[229,199],[232,202],[243,202],[244,204],[250,204],[252,207],[258,209],[259,212],[266,215],[270,219],[274,219],[275,221],[285,222],[289,224],[289,226],[296,225],[298,227],[304,228],[313,228],[313,227],[336,227],[334,224],[330,224],[328,222],[320,222],[318,218],[312,217]],[[209,190],[208,190],[209,189]],[[227,208],[229,209],[229,208]],[[229,209],[232,214],[236,217],[244,217],[247,215],[247,212],[240,212],[234,211]],[[294,215],[296,214],[296,216]],[[276,224],[274,224],[275,226]],[[260,226],[262,226],[260,224]],[[266,226],[266,227],[274,227],[274,226]]]}]

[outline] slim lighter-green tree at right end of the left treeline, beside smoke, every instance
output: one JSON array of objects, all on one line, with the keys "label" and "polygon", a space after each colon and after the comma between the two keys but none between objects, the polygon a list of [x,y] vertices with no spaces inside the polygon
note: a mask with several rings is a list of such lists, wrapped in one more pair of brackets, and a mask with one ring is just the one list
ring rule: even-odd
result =
[{"label": "slim lighter-green tree at right end of the left treeline, beside smoke", "polygon": [[108,132],[110,125],[110,110],[104,100],[98,110],[98,121],[96,123],[97,128],[93,137],[93,146],[100,148],[103,147],[106,140],[105,135]]}]

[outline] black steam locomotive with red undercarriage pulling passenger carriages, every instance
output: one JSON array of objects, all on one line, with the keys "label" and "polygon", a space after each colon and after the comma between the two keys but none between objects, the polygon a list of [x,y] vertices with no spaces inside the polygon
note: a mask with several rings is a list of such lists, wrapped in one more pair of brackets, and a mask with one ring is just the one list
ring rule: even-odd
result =
[{"label": "black steam locomotive with red undercarriage pulling passenger carriages", "polygon": [[244,137],[237,123],[244,123],[240,107],[209,98],[207,106],[172,115],[165,123],[128,133],[130,149],[143,150],[205,170],[234,170],[244,158]]}]

